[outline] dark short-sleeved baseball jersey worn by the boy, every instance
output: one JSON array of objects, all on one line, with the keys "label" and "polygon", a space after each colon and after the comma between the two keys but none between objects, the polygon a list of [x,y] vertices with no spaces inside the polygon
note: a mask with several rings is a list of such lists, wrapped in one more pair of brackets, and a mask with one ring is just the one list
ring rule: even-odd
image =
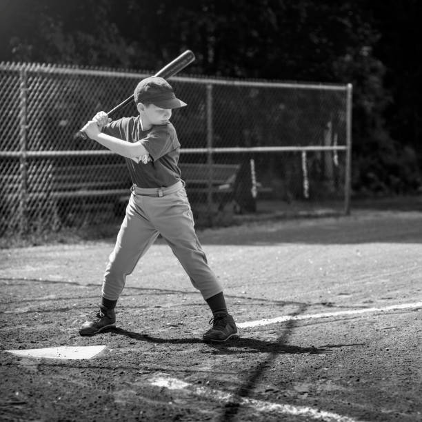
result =
[{"label": "dark short-sleeved baseball jersey worn by the boy", "polygon": [[154,125],[150,130],[142,130],[141,119],[123,117],[112,121],[103,132],[128,142],[142,141],[152,161],[144,164],[125,158],[132,183],[139,188],[163,188],[181,179],[178,166],[180,143],[172,123]]}]

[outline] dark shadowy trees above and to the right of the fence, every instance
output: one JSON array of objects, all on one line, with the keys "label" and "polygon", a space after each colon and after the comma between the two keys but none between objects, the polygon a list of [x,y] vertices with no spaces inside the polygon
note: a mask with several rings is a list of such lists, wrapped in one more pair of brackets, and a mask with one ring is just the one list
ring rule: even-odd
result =
[{"label": "dark shadowy trees above and to the right of the fence", "polygon": [[352,83],[353,188],[421,185],[422,2],[0,0],[0,60]]}]

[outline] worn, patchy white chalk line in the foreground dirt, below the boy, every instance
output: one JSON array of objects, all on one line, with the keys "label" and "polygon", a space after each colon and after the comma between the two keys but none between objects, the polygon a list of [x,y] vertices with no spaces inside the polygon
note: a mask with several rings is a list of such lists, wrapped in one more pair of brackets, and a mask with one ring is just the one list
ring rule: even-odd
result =
[{"label": "worn, patchy white chalk line in the foreground dirt, below the boy", "polygon": [[348,416],[342,416],[334,412],[327,412],[310,408],[308,406],[295,406],[289,404],[272,403],[270,401],[248,399],[245,397],[237,396],[230,392],[223,392],[215,390],[214,388],[198,387],[191,383],[186,383],[176,378],[171,378],[166,374],[156,374],[150,379],[152,385],[158,387],[168,388],[169,390],[189,390],[196,396],[202,396],[206,399],[219,401],[220,403],[235,403],[249,408],[254,408],[259,412],[273,412],[279,414],[288,414],[291,416],[303,416],[307,421],[310,419],[325,422],[359,422]]}]

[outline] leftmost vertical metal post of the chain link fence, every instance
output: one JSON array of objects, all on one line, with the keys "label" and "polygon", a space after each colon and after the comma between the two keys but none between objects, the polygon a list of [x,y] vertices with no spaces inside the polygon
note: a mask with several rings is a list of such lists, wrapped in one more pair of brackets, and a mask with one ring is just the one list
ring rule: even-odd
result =
[{"label": "leftmost vertical metal post of the chain link fence", "polygon": [[19,70],[19,233],[28,230],[27,219],[27,117],[28,117],[28,74],[25,68]]}]

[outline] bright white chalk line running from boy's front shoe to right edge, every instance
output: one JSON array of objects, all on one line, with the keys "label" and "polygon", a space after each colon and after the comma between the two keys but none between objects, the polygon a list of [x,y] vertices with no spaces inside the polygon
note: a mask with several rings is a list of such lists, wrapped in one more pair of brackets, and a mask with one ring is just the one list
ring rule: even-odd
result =
[{"label": "bright white chalk line running from boy's front shoe to right edge", "polygon": [[370,312],[386,312],[390,310],[401,310],[401,309],[415,309],[422,308],[422,302],[416,303],[403,303],[401,305],[390,305],[383,308],[364,308],[354,310],[342,310],[337,312],[325,312],[323,314],[305,314],[305,315],[284,315],[277,316],[277,318],[259,319],[257,321],[246,321],[244,323],[236,323],[239,328],[252,328],[259,327],[260,325],[270,325],[275,323],[281,323],[285,321],[299,321],[301,319],[321,319],[330,318],[330,316],[343,316],[343,315],[358,315],[366,314]]}]

